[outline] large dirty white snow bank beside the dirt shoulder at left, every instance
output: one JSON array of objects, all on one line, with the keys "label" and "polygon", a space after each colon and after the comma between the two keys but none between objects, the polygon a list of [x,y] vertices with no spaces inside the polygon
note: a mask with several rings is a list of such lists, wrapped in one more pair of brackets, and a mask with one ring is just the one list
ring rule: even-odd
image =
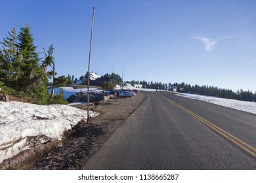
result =
[{"label": "large dirty white snow bank beside the dirt shoulder at left", "polygon": [[49,138],[60,141],[64,131],[86,119],[87,111],[67,105],[0,102],[0,163],[29,149],[29,137],[41,136],[41,144]]}]

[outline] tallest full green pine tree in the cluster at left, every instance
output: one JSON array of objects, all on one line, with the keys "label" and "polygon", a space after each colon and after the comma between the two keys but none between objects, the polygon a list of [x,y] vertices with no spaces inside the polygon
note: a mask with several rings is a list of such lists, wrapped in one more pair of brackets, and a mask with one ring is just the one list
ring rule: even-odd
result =
[{"label": "tallest full green pine tree in the cluster at left", "polygon": [[[46,72],[47,66],[50,64],[49,57],[40,65],[39,53],[36,51],[37,46],[34,45],[33,41],[28,24],[26,24],[26,27],[20,27],[18,50],[21,56],[20,69],[22,75],[17,80],[18,89],[30,96],[33,103],[45,105],[49,101],[47,91],[49,75]],[[50,57],[51,51],[53,50],[49,50]]]}]

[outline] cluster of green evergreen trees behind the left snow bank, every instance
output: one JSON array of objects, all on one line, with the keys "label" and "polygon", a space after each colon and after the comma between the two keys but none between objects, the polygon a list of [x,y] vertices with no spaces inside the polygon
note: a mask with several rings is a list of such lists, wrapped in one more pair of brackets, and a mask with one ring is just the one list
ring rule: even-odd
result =
[{"label": "cluster of green evergreen trees behind the left snow bank", "polygon": [[[48,50],[43,48],[43,52],[37,52],[28,24],[20,27],[19,33],[13,27],[0,44],[0,88],[3,92],[26,97],[41,105],[66,103],[63,93],[53,96],[48,92],[50,87],[62,85],[60,82],[65,78],[55,78],[53,44]],[[48,71],[48,67],[52,70]]]}]

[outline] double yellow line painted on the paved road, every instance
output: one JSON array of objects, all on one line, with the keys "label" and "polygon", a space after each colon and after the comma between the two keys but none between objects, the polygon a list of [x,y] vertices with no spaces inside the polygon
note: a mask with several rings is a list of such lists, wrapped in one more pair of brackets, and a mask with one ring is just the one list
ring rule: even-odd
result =
[{"label": "double yellow line painted on the paved road", "polygon": [[[165,96],[163,96],[165,97]],[[214,131],[216,131],[217,133],[223,135],[223,137],[226,137],[226,139],[228,139],[229,141],[233,142],[234,144],[236,144],[237,146],[240,146],[240,148],[242,148],[243,150],[245,150],[246,152],[248,152],[249,154],[251,154],[252,156],[256,157],[256,148],[253,148],[253,146],[250,146],[249,144],[245,143],[244,141],[242,141],[241,139],[238,139],[237,137],[235,137],[234,135],[231,135],[230,133],[228,133],[227,131],[224,131],[224,129],[221,129],[220,127],[218,127],[217,125],[212,124],[211,122],[205,120],[204,118],[202,118],[201,116],[198,116],[198,114],[195,114],[194,112],[188,110],[187,108],[182,107],[181,105],[179,105],[178,103],[175,103],[174,101],[172,101],[171,99],[168,99],[167,97],[165,97],[165,99],[167,99],[167,101],[169,101],[170,103],[172,103],[173,105],[181,108],[182,110],[184,110],[185,112],[187,112],[188,114],[190,114],[191,116],[193,116],[194,118],[196,118],[197,120],[199,120],[200,122],[202,122],[203,124],[207,125],[208,127],[210,127],[211,129],[213,129]]]}]

